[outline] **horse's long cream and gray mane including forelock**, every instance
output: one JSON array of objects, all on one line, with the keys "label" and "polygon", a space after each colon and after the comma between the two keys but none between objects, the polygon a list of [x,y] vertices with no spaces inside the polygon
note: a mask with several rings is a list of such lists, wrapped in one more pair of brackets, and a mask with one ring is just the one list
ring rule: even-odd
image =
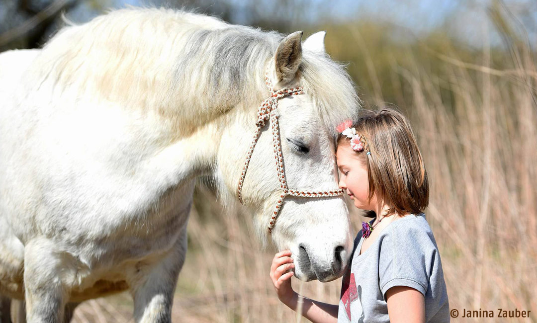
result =
[{"label": "horse's long cream and gray mane including forelock", "polygon": [[[186,134],[233,107],[257,107],[268,93],[265,67],[283,37],[191,12],[121,9],[64,27],[35,62],[37,83],[155,109]],[[328,55],[303,49],[299,77],[332,134],[360,108],[349,75]]]}]

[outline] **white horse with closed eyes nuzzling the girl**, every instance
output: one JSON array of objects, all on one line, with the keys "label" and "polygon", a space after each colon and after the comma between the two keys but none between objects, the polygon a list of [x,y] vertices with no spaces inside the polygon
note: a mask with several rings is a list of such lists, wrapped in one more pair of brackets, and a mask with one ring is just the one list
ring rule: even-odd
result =
[{"label": "white horse with closed eyes nuzzling the girl", "polygon": [[[274,111],[289,188],[338,189],[335,127],[359,99],[324,33],[301,36],[126,9],[1,54],[4,299],[25,299],[27,320],[49,323],[67,304],[129,290],[137,322],[169,322],[195,178],[212,174],[224,205],[237,201],[265,71],[274,90],[305,91]],[[270,234],[282,193],[273,154],[265,130],[244,207],[263,241],[293,251],[297,278],[333,280],[352,247],[344,199],[287,197]]]}]

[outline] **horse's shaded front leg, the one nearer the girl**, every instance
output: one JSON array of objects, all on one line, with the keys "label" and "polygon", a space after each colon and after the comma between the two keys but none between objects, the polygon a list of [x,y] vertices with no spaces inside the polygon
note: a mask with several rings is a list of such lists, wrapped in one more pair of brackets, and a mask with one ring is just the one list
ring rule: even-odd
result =
[{"label": "horse's shaded front leg, the one nearer the girl", "polygon": [[186,225],[176,246],[132,290],[136,323],[170,323],[173,292],[186,255]]}]

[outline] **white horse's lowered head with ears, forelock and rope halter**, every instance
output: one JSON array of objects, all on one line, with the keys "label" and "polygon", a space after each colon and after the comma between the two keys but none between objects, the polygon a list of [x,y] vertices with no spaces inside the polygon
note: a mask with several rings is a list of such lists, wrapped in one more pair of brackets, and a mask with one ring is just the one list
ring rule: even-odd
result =
[{"label": "white horse's lowered head with ears, forelock and rope halter", "polygon": [[223,134],[219,169],[252,212],[258,236],[291,249],[295,276],[327,282],[343,274],[352,252],[334,136],[358,104],[346,73],[324,52],[324,32],[301,38],[288,35],[267,60],[267,99],[257,118],[237,116]]}]

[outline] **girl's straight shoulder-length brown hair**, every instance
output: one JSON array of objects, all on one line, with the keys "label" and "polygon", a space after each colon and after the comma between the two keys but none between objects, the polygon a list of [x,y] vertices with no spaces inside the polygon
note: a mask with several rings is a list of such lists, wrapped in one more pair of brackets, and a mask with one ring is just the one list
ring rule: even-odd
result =
[{"label": "girl's straight shoulder-length brown hair", "polygon": [[[378,193],[391,205],[386,216],[423,212],[429,204],[429,181],[407,118],[393,108],[364,110],[352,127],[364,144],[355,153],[367,166],[369,201]],[[340,134],[337,144],[350,145],[350,140]],[[375,216],[373,211],[366,214]]]}]

